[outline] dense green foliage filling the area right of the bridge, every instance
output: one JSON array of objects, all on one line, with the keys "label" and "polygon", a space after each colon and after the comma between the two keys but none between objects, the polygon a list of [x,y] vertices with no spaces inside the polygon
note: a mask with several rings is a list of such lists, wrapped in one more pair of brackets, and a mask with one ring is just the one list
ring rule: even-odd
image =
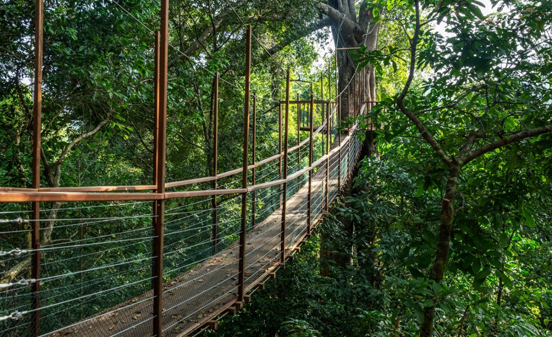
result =
[{"label": "dense green foliage filling the area right of the bridge", "polygon": [[[412,39],[413,3],[386,4],[384,21],[403,13]],[[357,193],[322,227],[331,233],[333,242],[326,245],[335,256],[352,254],[353,264],[321,277],[307,267],[316,256],[306,254],[309,262],[286,271],[261,303],[227,329],[246,328],[243,336],[415,336],[434,308],[438,336],[551,334],[552,138],[544,133],[503,141],[550,124],[550,4],[493,2],[501,13],[487,17],[481,5],[423,3],[427,21],[417,33],[416,54],[408,54],[401,38],[358,53],[376,67],[384,89],[372,114],[380,127],[379,155],[362,161]],[[445,37],[427,25],[443,19]],[[403,88],[387,81],[400,78],[394,74],[404,74],[401,67],[409,70],[411,56],[417,75],[400,98]],[[408,119],[397,98],[413,112]],[[437,145],[429,146],[428,135]],[[489,144],[501,145],[486,150]],[[450,181],[443,161],[451,158],[463,167],[453,177],[457,206],[448,261],[444,277],[435,281],[432,265]],[[341,230],[349,222],[352,236]],[[274,309],[280,306],[287,308],[283,314]],[[261,312],[273,316],[258,322]]]}]

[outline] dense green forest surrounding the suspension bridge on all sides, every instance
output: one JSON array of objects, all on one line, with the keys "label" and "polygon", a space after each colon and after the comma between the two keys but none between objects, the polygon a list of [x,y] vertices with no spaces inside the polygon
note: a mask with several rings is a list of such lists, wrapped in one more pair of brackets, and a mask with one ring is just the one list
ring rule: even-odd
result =
[{"label": "dense green forest surrounding the suspension bridge on all sides", "polygon": [[[20,0],[0,5],[2,187],[32,183],[34,9]],[[148,0],[44,2],[41,187],[151,183],[159,9]],[[339,93],[342,129],[359,123],[363,148],[354,176],[306,249],[252,304],[206,334],[552,336],[552,2],[171,1],[167,182],[217,173],[215,73],[221,79],[217,171],[239,166],[246,24],[254,35],[251,85],[259,115],[250,160],[279,150],[277,109],[287,70],[294,80],[312,82],[317,97]],[[364,75],[351,89],[355,73]],[[292,91],[310,99],[310,88],[300,83]],[[355,91],[371,107],[367,118],[348,114]],[[290,125],[299,125],[294,118]],[[308,138],[294,128],[290,144]],[[224,202],[238,214],[239,200]],[[51,203],[50,219],[103,212],[88,204],[74,214],[62,207]],[[151,204],[121,207],[149,214]],[[29,203],[0,205],[2,212],[29,209]],[[147,216],[76,232],[52,221],[40,240],[148,229]],[[25,226],[0,233],[0,248],[30,246],[29,235],[9,234],[28,231]],[[179,235],[172,243],[179,249],[195,244]],[[143,257],[150,246],[114,249]],[[61,266],[45,270],[87,267],[88,260],[83,266],[63,257]],[[102,258],[116,259],[94,263]],[[27,273],[30,259],[2,268],[0,282],[12,282]],[[149,273],[144,265],[109,282],[118,286]],[[73,290],[77,296],[82,285]],[[96,305],[83,306],[75,319],[99,311]],[[71,320],[56,319],[51,327]]]}]

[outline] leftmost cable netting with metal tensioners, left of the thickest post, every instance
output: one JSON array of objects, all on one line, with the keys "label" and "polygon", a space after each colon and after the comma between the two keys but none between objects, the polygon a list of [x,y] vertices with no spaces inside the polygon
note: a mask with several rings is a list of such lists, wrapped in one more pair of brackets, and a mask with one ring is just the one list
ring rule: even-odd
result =
[{"label": "leftmost cable netting with metal tensioners, left of the thickest post", "polygon": [[[25,234],[3,238],[4,251],[12,246],[24,252],[2,260],[2,278],[40,283],[40,291],[35,293],[40,298],[38,334],[88,329],[90,336],[112,336],[150,330],[151,202],[50,203],[43,207],[38,220],[39,249],[29,248],[34,222],[29,220],[29,212],[3,212],[2,218],[22,217],[25,229],[16,229],[14,224],[1,233],[16,230]],[[40,252],[40,277],[31,279],[31,254],[35,251]],[[32,306],[35,294],[29,287],[9,287],[1,293],[2,311],[21,315],[0,322],[4,335],[28,334],[29,319],[38,311]],[[103,324],[109,317],[132,324]]]}]

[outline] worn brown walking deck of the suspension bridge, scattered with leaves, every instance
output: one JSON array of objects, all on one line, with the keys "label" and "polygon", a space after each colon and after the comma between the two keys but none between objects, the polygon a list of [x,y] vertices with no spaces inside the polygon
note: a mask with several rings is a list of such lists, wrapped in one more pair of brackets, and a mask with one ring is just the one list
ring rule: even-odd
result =
[{"label": "worn brown walking deck of the suspension bridge, scattered with leaves", "polygon": [[[342,136],[345,139],[346,136]],[[332,145],[336,148],[337,141]],[[342,149],[342,174],[347,175],[347,150]],[[353,152],[354,153],[354,152]],[[330,159],[330,199],[338,191],[338,156]],[[321,164],[312,175],[312,220],[323,213],[326,165]],[[344,179],[342,179],[344,180]],[[286,208],[286,255],[300,244],[307,229],[308,184],[288,198]],[[252,289],[280,263],[282,207],[268,215],[246,235],[246,290]],[[163,336],[181,336],[197,329],[225,306],[236,301],[238,291],[239,244],[236,242],[209,259],[164,283]],[[151,336],[152,292],[110,308],[83,320],[71,328],[50,336],[108,337]],[[207,304],[206,304],[207,303]],[[218,310],[218,311],[217,311]]]}]

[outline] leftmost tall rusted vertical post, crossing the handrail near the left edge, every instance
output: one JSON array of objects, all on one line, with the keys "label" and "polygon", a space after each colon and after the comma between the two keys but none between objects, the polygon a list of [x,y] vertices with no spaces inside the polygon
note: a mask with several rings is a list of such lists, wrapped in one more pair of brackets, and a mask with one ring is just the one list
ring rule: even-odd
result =
[{"label": "leftmost tall rusted vertical post, crossing the handrail near the left edge", "polygon": [[[32,187],[40,187],[40,148],[42,132],[42,58],[44,44],[44,3],[35,0],[35,55],[34,55],[34,97],[33,97],[33,171]],[[31,274],[35,280],[40,279],[40,202],[33,202],[33,224],[31,231]],[[32,305],[31,336],[37,336],[40,328],[40,282],[31,283]]]}]

